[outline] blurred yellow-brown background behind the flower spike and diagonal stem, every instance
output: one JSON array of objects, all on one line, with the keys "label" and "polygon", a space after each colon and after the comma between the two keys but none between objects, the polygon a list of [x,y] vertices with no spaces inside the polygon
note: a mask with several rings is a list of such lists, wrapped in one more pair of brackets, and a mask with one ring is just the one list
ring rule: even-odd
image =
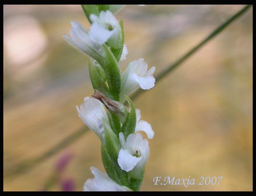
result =
[{"label": "blurred yellow-brown background behind the flower spike and diagonal stem", "polygon": [[[129,50],[122,70],[144,57],[156,73],[195,46],[243,5],[128,5],[122,17]],[[88,57],[62,38],[70,21],[90,28],[79,5],[4,5],[4,174],[81,128],[76,105],[93,93]],[[252,8],[135,101],[155,131],[144,191],[252,190]],[[75,190],[104,171],[101,143],[88,131],[28,171],[4,176],[5,191],[43,189],[58,159]],[[17,168],[16,168],[17,169]],[[223,176],[220,185],[154,185],[155,176]],[[58,191],[58,183],[49,190]]]}]

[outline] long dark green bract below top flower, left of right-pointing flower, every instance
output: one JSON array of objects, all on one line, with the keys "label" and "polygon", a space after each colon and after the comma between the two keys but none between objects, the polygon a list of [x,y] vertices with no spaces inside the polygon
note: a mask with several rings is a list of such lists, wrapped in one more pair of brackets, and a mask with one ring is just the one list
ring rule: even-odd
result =
[{"label": "long dark green bract below top flower, left of right-pointing flower", "polygon": [[113,96],[115,101],[119,101],[120,88],[121,88],[121,76],[119,65],[108,46],[103,45],[106,51],[106,64],[101,66],[104,68],[105,74],[107,76],[107,82],[109,91]]}]

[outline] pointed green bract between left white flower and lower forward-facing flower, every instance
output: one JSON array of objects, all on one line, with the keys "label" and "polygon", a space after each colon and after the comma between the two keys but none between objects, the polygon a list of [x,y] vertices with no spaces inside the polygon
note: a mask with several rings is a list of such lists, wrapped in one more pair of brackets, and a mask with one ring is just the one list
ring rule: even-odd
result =
[{"label": "pointed green bract between left white flower and lower forward-facing flower", "polygon": [[121,150],[121,144],[119,139],[112,131],[110,126],[103,119],[104,131],[105,131],[105,147],[113,162],[117,162],[119,151]]}]

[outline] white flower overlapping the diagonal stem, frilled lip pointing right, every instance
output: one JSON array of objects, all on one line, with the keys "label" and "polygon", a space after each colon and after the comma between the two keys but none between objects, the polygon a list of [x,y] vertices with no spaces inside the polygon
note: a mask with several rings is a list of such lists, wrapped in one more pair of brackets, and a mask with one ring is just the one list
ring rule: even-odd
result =
[{"label": "white flower overlapping the diagonal stem, frilled lip pointing right", "polygon": [[121,103],[125,100],[125,95],[129,96],[138,88],[151,89],[155,86],[155,78],[153,77],[155,67],[147,70],[148,64],[144,62],[143,58],[129,63],[121,76]]}]

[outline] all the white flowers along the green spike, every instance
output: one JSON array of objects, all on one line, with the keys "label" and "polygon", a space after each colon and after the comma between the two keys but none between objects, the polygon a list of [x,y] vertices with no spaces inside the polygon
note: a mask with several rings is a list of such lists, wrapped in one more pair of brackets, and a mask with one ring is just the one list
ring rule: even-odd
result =
[{"label": "all the white flowers along the green spike", "polygon": [[[119,21],[116,20],[112,12],[101,11],[99,16],[90,15],[92,25],[88,31],[79,22],[71,22],[72,28],[70,36],[63,35],[65,40],[80,52],[87,54],[96,61],[101,61],[105,57],[103,45],[115,47],[119,44],[121,36],[121,28]],[[128,50],[123,47],[123,53],[120,60],[126,59]],[[143,58],[132,61],[128,64],[126,70],[121,74],[120,103],[124,103],[125,96],[129,96],[137,89],[151,89],[155,85],[155,78],[152,76],[155,67],[148,70],[148,64]],[[105,111],[104,104],[100,100],[90,97],[84,98],[84,103],[80,107],[76,106],[79,117],[83,122],[101,139],[104,143],[105,131],[104,123],[109,125],[108,116]],[[119,142],[121,150],[118,154],[118,164],[120,168],[132,178],[138,178],[141,170],[144,168],[148,156],[149,146],[148,140],[143,139],[138,131],[144,131],[149,139],[154,137],[151,125],[141,120],[141,111],[136,109],[136,127],[135,133],[125,136],[123,132],[119,133]],[[110,125],[109,125],[110,126]],[[107,175],[103,174],[95,167],[91,167],[94,179],[88,179],[84,185],[84,191],[127,191],[128,188],[114,182]]]}]

